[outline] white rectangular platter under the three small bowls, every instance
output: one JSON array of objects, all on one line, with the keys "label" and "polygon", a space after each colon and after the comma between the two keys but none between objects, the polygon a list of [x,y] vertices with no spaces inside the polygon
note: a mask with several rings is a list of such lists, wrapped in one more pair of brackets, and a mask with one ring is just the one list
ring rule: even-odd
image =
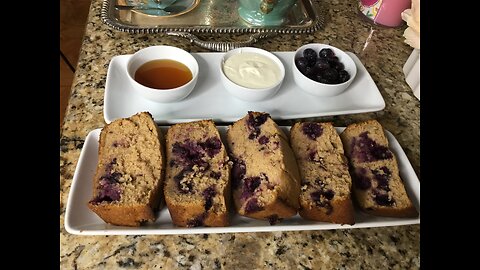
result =
[{"label": "white rectangular platter under the three small bowls", "polygon": [[285,66],[285,79],[272,98],[260,102],[242,101],[230,95],[220,80],[224,53],[192,53],[199,64],[199,77],[192,93],[182,101],[156,103],[134,93],[127,80],[126,64],[131,55],[112,58],[107,72],[104,117],[107,123],[137,112],[148,111],[159,124],[199,119],[233,122],[247,111],[269,112],[273,119],[295,119],[380,111],[385,101],[358,57],[348,54],[357,65],[357,75],[345,92],[333,97],[316,97],[302,91],[293,80],[294,52],[274,52]]}]

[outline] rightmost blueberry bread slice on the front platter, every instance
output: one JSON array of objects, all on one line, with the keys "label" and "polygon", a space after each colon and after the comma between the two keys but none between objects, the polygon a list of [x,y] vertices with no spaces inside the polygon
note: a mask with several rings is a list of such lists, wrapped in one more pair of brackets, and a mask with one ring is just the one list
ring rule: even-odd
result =
[{"label": "rightmost blueberry bread slice on the front platter", "polygon": [[348,125],[340,137],[350,161],[355,198],[362,210],[378,216],[418,216],[380,123],[368,120]]}]

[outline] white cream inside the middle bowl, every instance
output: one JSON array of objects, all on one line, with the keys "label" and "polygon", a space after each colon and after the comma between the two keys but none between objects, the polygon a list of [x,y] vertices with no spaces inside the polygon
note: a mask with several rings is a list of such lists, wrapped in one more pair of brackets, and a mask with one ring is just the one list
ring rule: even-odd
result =
[{"label": "white cream inside the middle bowl", "polygon": [[252,52],[229,57],[223,64],[223,72],[234,83],[255,89],[272,87],[281,80],[280,68],[273,60]]}]

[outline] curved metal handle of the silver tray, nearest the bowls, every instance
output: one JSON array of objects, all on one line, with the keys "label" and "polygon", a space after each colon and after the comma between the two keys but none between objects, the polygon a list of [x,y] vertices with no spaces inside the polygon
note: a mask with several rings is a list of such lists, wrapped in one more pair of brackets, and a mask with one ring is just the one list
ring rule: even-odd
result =
[{"label": "curved metal handle of the silver tray, nearest the bowls", "polygon": [[235,42],[224,42],[224,41],[204,41],[199,39],[197,36],[187,33],[187,32],[166,32],[169,36],[176,36],[176,37],[183,37],[190,40],[190,43],[193,43],[199,47],[218,51],[218,52],[226,52],[232,49],[240,48],[240,47],[249,47],[253,43],[257,42],[260,39],[273,37],[277,35],[277,33],[255,33],[250,36],[250,38],[246,41],[235,41]]}]

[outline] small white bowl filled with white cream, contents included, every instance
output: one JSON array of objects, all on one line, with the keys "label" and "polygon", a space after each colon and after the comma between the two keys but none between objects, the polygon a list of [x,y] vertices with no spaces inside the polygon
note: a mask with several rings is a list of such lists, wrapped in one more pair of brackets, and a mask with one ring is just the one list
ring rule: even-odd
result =
[{"label": "small white bowl filled with white cream, contents included", "polygon": [[285,67],[274,54],[253,47],[230,50],[220,61],[225,89],[244,101],[262,101],[275,95],[285,78]]}]

